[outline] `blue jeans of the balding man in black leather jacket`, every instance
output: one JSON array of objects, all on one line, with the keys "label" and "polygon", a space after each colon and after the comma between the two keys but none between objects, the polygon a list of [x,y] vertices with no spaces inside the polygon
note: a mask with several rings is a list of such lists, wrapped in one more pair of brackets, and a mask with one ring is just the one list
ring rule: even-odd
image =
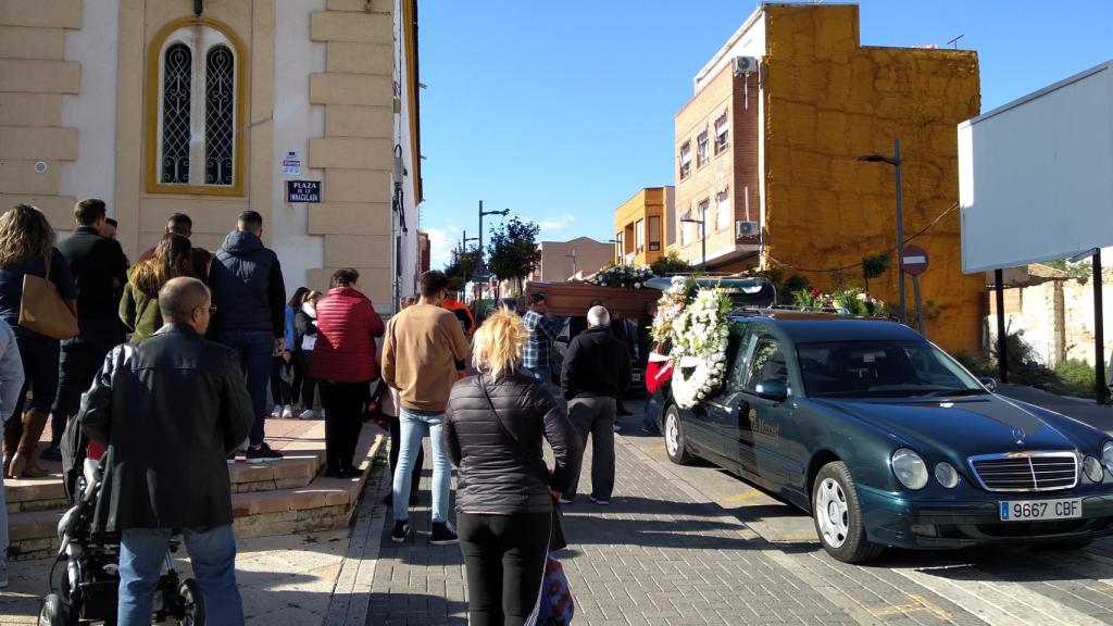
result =
[{"label": "blue jeans of the balding man in black leather jacket", "polygon": [[[162,573],[169,528],[129,528],[120,537],[119,626],[149,626],[155,587]],[[194,577],[205,598],[205,623],[240,626],[244,606],[236,588],[236,538],[232,525],[183,529]]]}]

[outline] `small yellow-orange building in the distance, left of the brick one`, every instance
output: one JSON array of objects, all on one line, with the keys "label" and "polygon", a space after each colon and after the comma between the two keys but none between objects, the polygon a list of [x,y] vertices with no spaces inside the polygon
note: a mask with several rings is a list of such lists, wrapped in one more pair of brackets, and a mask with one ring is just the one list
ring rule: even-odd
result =
[{"label": "small yellow-orange building in the distance, left of the brick one", "polygon": [[676,187],[646,187],[614,209],[614,262],[649,265],[664,254],[676,236]]}]

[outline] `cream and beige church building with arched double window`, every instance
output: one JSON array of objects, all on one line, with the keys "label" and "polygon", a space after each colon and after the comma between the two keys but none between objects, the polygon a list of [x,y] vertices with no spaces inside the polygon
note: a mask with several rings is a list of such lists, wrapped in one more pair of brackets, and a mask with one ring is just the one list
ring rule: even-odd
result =
[{"label": "cream and beige church building with arched double window", "polygon": [[[100,197],[131,258],[170,214],[215,250],[254,209],[286,285],[414,292],[416,0],[3,0],[0,202],[63,235]],[[288,185],[319,190],[289,195]]]}]

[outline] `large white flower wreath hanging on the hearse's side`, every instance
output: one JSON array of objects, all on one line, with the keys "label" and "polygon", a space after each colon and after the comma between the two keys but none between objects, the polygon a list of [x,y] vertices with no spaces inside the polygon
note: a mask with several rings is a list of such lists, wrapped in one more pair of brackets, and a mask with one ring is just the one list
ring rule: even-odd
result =
[{"label": "large white flower wreath hanging on the hearse's side", "polygon": [[[682,409],[691,409],[722,384],[731,309],[730,297],[722,290],[706,287],[698,290],[679,316],[672,319],[669,351],[669,361],[676,369],[672,397]],[[661,313],[659,306],[658,315]]]}]

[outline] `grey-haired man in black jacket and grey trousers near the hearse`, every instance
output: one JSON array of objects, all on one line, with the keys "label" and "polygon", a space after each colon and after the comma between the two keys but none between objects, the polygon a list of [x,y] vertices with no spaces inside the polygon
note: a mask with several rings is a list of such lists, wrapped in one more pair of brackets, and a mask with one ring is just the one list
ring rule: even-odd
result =
[{"label": "grey-haired man in black jacket and grey trousers near the hearse", "polygon": [[[591,434],[591,501],[609,505],[614,490],[614,399],[630,381],[630,355],[610,330],[602,306],[588,311],[588,330],[572,340],[561,370],[568,414],[588,444]],[[561,499],[572,503],[579,472]]]}]

